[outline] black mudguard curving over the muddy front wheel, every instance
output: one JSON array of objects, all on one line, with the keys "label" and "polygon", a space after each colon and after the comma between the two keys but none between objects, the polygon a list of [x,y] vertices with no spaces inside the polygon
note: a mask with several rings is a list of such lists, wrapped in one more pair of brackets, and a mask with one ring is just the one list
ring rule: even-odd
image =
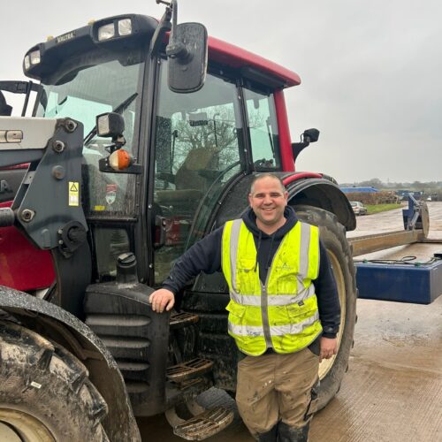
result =
[{"label": "black mudguard curving over the muddy front wheel", "polygon": [[55,304],[4,286],[0,286],[0,314],[2,310],[57,341],[87,366],[90,380],[109,407],[103,427],[110,441],[141,441],[117,362],[86,324]]}]

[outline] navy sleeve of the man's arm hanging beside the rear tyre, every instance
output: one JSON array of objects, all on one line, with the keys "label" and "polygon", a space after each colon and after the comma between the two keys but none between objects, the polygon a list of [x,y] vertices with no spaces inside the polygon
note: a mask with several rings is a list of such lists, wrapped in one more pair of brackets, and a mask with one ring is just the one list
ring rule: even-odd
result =
[{"label": "navy sleeve of the man's arm hanging beside the rear tyre", "polygon": [[319,241],[319,254],[319,275],[313,281],[319,318],[323,325],[323,336],[325,338],[336,338],[340,322],[339,294],[331,271],[329,257],[322,241]]}]

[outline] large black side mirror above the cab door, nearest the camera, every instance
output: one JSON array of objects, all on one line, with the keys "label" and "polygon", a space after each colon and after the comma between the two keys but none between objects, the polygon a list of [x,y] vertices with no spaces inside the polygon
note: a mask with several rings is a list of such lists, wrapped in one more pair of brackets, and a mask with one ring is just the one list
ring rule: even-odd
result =
[{"label": "large black side mirror above the cab door, nearest the camera", "polygon": [[172,27],[166,48],[171,91],[185,94],[202,88],[207,71],[207,38],[207,29],[201,23]]}]

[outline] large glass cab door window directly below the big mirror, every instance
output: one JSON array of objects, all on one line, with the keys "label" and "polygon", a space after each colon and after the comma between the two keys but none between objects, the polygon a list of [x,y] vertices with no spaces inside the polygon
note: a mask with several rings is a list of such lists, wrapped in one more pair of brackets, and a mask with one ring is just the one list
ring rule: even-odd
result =
[{"label": "large glass cab door window directly below the big mirror", "polygon": [[218,195],[244,164],[236,85],[209,73],[201,90],[175,94],[167,87],[166,63],[156,112],[154,206],[166,223],[154,256],[156,284],[198,239]]}]

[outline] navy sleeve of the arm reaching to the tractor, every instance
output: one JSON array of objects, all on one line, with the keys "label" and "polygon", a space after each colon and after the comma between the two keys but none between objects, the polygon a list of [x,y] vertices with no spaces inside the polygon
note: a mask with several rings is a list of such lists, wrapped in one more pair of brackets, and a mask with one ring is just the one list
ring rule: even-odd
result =
[{"label": "navy sleeve of the arm reaching to the tractor", "polygon": [[190,279],[202,271],[205,273],[220,271],[222,239],[223,227],[219,227],[196,242],[175,262],[169,277],[164,280],[163,288],[177,294]]}]

